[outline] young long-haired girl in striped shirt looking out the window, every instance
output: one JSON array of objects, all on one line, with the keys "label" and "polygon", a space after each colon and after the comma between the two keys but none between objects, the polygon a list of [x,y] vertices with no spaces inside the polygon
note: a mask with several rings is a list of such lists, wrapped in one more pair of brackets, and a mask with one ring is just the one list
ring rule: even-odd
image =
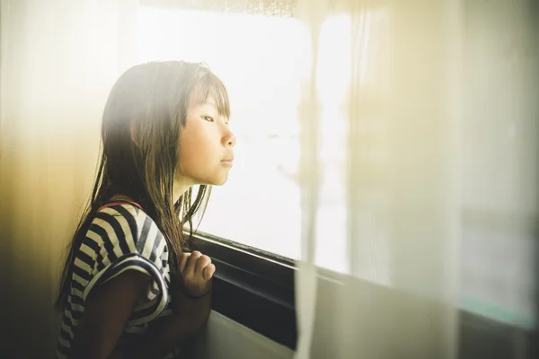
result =
[{"label": "young long-haired girl in striped shirt looking out the window", "polygon": [[[208,320],[216,270],[182,230],[234,160],[225,86],[182,61],[130,68],[110,92],[93,195],[70,243],[59,358],[169,358]],[[193,186],[200,185],[196,196]]]}]

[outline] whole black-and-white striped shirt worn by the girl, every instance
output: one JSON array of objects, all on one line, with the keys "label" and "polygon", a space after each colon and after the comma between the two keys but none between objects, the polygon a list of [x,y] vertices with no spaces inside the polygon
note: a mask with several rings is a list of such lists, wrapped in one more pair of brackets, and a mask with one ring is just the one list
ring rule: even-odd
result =
[{"label": "whole black-and-white striped shirt worn by the girl", "polygon": [[[118,346],[137,340],[153,320],[172,313],[166,241],[155,222],[135,205],[112,203],[100,208],[93,218],[75,254],[71,289],[58,337],[58,358],[66,358],[69,354],[88,295],[94,288],[128,269],[146,273],[152,281],[138,298]],[[173,358],[177,354],[178,350],[175,350],[165,358]]]}]

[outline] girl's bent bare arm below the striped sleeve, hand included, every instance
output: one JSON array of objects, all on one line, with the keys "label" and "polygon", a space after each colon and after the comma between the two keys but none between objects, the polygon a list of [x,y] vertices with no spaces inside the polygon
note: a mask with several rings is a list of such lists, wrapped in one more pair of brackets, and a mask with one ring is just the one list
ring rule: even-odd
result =
[{"label": "girl's bent bare arm below the striped sleeve, hand included", "polygon": [[[195,254],[195,253],[193,253]],[[209,269],[208,269],[209,267]],[[215,266],[207,256],[198,252],[192,258],[184,254],[181,259],[181,287],[190,295],[208,293],[199,299],[190,299],[181,293],[180,285],[170,288],[174,306],[172,315],[156,320],[136,346],[125,356],[113,354],[125,324],[133,311],[137,298],[144,293],[150,277],[136,270],[128,270],[95,289],[86,300],[72,342],[70,358],[104,359],[122,357],[163,357],[181,340],[194,334],[208,320],[210,310],[211,276]],[[205,292],[201,292],[205,291]]]}]

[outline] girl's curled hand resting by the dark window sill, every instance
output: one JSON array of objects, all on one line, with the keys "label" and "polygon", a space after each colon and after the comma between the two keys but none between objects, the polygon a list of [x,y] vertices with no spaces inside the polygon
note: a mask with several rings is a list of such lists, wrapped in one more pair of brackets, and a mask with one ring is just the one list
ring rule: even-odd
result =
[{"label": "girl's curled hand resting by the dark window sill", "polygon": [[216,266],[208,256],[198,250],[182,253],[179,260],[180,285],[183,292],[191,297],[199,297],[211,290],[211,278]]}]

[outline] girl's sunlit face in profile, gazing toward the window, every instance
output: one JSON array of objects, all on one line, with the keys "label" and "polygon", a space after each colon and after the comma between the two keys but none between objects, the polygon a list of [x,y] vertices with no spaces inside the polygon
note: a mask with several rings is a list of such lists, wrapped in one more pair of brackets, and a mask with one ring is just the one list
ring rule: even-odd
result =
[{"label": "girl's sunlit face in profile, gazing toward the window", "polygon": [[180,161],[174,192],[182,194],[193,185],[222,185],[234,161],[235,136],[210,96],[191,105],[181,128]]}]

